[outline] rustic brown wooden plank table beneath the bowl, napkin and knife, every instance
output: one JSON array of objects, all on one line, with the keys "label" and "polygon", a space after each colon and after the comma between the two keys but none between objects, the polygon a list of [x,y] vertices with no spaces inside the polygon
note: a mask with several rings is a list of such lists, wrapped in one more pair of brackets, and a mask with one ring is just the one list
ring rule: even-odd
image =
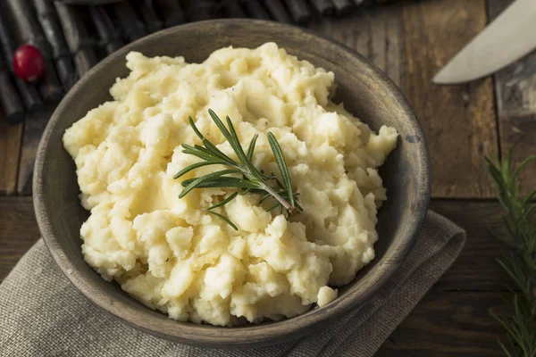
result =
[{"label": "rustic brown wooden plank table beneath the bowl, napkin and knife", "polygon": [[[470,84],[440,87],[430,79],[510,2],[412,1],[311,25],[364,54],[402,88],[430,145],[431,209],[467,230],[459,259],[393,332],[380,355],[502,354],[497,338],[504,335],[489,309],[503,306],[500,292],[508,280],[496,258],[507,247],[488,232],[499,224],[501,211],[483,158],[504,153],[510,145],[515,162],[536,153],[536,76],[509,83],[524,63],[536,61],[536,52]],[[31,172],[53,110],[11,127],[0,118],[0,279],[39,237]],[[536,187],[536,165],[523,180]]]}]

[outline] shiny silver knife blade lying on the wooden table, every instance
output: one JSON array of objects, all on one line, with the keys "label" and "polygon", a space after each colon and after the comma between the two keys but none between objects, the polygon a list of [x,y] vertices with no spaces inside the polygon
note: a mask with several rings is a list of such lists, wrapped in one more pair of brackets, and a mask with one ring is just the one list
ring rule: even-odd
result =
[{"label": "shiny silver knife blade lying on the wooden table", "polygon": [[465,83],[515,62],[536,48],[536,0],[516,0],[457,53],[432,82]]}]

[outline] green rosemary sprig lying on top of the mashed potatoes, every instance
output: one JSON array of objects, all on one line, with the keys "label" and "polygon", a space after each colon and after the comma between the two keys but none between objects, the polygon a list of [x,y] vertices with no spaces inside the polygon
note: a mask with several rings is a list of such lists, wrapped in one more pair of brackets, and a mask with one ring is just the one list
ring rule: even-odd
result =
[{"label": "green rosemary sprig lying on top of the mashed potatoes", "polygon": [[216,203],[204,210],[205,212],[209,212],[221,218],[222,220],[225,220],[227,223],[229,223],[230,227],[235,228],[236,230],[239,230],[239,228],[237,228],[232,221],[222,214],[214,212],[213,210],[215,208],[222,207],[226,203],[230,203],[230,201],[233,200],[237,195],[245,195],[247,193],[263,195],[259,200],[259,204],[262,204],[264,201],[271,198],[274,203],[266,210],[267,212],[270,212],[276,208],[279,208],[280,213],[282,213],[283,210],[286,210],[287,214],[290,214],[296,208],[301,211],[302,208],[297,202],[297,196],[299,194],[292,191],[292,181],[290,180],[289,168],[285,162],[285,157],[281,151],[281,146],[273,134],[271,132],[268,133],[268,143],[272,148],[275,162],[277,162],[279,170],[281,171],[281,178],[283,179],[284,185],[281,184],[281,181],[277,179],[273,173],[267,175],[263,170],[258,170],[255,168],[253,164],[253,154],[255,152],[255,143],[258,135],[255,134],[255,136],[251,139],[246,153],[239,142],[239,137],[232,125],[232,122],[230,121],[229,116],[226,117],[228,129],[212,109],[209,109],[208,113],[210,114],[212,120],[214,120],[214,123],[218,129],[222,131],[223,137],[225,137],[225,139],[227,139],[229,142],[230,147],[239,158],[239,162],[231,159],[228,155],[224,154],[220,149],[218,149],[216,145],[208,141],[208,139],[201,134],[199,129],[197,129],[194,120],[189,117],[189,124],[196,133],[197,137],[201,139],[203,145],[192,146],[183,144],[182,152],[184,154],[196,156],[197,158],[201,159],[201,162],[193,163],[180,170],[173,179],[179,179],[181,176],[185,175],[191,170],[208,165],[226,165],[230,166],[231,169],[219,170],[199,178],[186,179],[182,181],[181,185],[184,187],[184,189],[180,193],[179,198],[188,195],[188,192],[194,188],[236,188],[237,191],[227,196],[222,200],[222,202]]}]

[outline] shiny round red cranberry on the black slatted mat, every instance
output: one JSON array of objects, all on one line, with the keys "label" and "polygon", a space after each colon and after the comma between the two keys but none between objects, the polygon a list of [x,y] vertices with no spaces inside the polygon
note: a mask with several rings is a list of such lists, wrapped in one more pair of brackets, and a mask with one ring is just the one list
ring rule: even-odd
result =
[{"label": "shiny round red cranberry on the black slatted mat", "polygon": [[13,71],[20,79],[33,82],[45,75],[45,58],[38,48],[22,45],[13,54]]}]

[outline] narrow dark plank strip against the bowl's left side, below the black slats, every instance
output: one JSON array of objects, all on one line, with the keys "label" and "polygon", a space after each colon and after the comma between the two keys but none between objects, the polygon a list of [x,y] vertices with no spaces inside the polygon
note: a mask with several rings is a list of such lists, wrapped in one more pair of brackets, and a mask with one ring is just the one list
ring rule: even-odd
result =
[{"label": "narrow dark plank strip against the bowl's left side, below the black slats", "polygon": [[38,152],[39,141],[45,130],[46,123],[54,112],[55,105],[47,105],[39,112],[28,114],[22,134],[21,161],[19,163],[19,179],[17,193],[31,195],[33,167]]}]

